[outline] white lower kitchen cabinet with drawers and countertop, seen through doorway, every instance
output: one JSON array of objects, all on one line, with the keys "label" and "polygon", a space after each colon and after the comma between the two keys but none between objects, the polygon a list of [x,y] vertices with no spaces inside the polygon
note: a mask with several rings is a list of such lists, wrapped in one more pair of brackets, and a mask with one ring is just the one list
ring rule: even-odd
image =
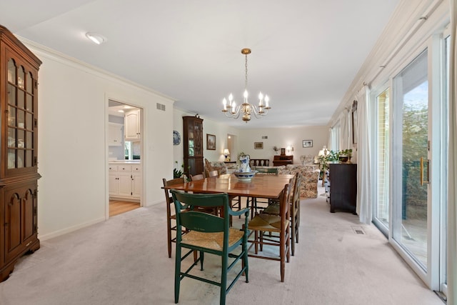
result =
[{"label": "white lower kitchen cabinet with drawers and countertop, seen through doorway", "polygon": [[109,196],[116,199],[141,198],[141,164],[109,164]]}]

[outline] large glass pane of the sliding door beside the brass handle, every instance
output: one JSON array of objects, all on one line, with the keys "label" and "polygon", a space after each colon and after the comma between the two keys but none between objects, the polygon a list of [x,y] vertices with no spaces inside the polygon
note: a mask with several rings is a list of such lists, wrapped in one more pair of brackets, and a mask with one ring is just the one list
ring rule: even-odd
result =
[{"label": "large glass pane of the sliding door beside the brass handle", "polygon": [[392,237],[427,270],[428,52],[393,79]]}]

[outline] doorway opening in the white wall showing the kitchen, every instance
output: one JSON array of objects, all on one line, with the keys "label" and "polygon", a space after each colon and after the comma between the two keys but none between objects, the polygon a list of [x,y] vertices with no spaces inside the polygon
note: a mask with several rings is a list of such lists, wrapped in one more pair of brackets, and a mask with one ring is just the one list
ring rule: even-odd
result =
[{"label": "doorway opening in the white wall showing the kitchen", "polygon": [[109,100],[108,189],[109,217],[141,206],[143,162],[143,109]]}]

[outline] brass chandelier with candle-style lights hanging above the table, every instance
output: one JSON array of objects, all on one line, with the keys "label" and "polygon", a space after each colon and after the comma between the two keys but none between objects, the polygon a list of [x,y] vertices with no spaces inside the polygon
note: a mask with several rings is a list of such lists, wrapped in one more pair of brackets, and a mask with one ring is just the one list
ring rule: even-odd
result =
[{"label": "brass chandelier with candle-style lights hanging above the table", "polygon": [[261,116],[268,114],[268,109],[271,107],[268,105],[268,95],[263,96],[262,93],[258,94],[258,106],[248,103],[248,54],[251,54],[251,49],[241,49],[241,54],[244,54],[246,59],[244,60],[245,66],[245,79],[244,79],[244,93],[243,93],[243,104],[236,106],[236,102],[233,99],[233,95],[229,95],[229,102],[224,98],[222,104],[224,104],[224,109],[222,112],[226,114],[228,118],[238,119],[242,114],[241,119],[246,123],[251,121],[251,114],[253,114],[257,119]]}]

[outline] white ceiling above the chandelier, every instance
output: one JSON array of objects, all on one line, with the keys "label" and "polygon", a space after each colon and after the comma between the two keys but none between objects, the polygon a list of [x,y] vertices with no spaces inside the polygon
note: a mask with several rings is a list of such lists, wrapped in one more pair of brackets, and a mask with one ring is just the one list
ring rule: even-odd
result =
[{"label": "white ceiling above the chandelier", "polygon": [[[14,34],[238,128],[326,125],[400,0],[1,0]],[[106,37],[93,44],[86,32]],[[271,110],[247,124],[221,112],[248,91]]]}]

